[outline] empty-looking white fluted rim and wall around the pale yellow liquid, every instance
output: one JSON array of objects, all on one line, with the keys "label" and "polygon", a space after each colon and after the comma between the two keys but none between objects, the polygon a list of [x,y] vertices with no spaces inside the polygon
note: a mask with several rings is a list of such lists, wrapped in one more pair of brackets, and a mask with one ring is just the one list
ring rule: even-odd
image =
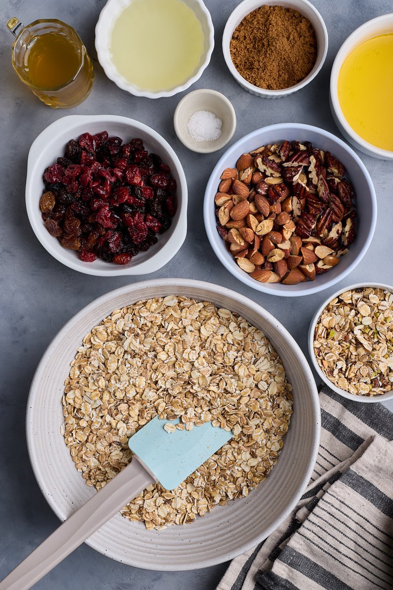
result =
[{"label": "empty-looking white fluted rim and wall around the pale yellow liquid", "polygon": [[[183,84],[176,86],[170,90],[153,91],[141,89],[126,80],[116,70],[110,53],[110,35],[112,32],[115,19],[121,11],[132,0],[108,0],[104,8],[101,10],[97,25],[95,26],[95,49],[97,51],[98,61],[100,62],[106,76],[112,80],[119,88],[127,90],[134,96],[145,96],[148,99],[161,99],[162,97],[173,96],[179,92],[183,92],[194,84],[202,76],[203,71],[209,65],[214,48],[214,28],[212,17],[202,0],[182,0],[189,8],[196,14],[200,22],[203,32],[203,53],[200,57],[197,70],[194,71]],[[147,41],[148,42],[148,41]],[[132,56],[130,57],[132,59]]]}]

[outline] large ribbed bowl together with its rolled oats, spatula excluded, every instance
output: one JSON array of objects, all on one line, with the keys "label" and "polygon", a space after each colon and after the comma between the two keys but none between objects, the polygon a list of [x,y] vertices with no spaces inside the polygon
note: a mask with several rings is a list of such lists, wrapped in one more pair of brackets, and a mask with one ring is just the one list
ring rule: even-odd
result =
[{"label": "large ribbed bowl together with its rolled oats, spatula excluded", "polygon": [[214,419],[218,409],[234,437],[173,492],[149,486],[87,544],[144,569],[225,562],[293,510],[320,432],[305,356],[285,327],[239,293],[189,279],[151,280],[107,293],[73,317],[30,389],[35,477],[66,519],[130,461],[128,438],[154,414],[169,418],[168,409],[194,428],[210,419],[201,411]]}]

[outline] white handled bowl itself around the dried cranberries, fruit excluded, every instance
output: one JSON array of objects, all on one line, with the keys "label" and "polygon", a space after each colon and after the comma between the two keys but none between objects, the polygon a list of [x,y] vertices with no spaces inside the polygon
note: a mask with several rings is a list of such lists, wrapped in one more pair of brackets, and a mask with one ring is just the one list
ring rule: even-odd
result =
[{"label": "white handled bowl itself around the dried cranberries, fruit excluded", "polygon": [[[107,263],[101,258],[97,258],[93,263],[80,260],[76,252],[63,248],[57,238],[49,234],[39,209],[39,199],[44,189],[42,174],[45,168],[55,163],[58,156],[64,155],[65,146],[70,139],[77,139],[85,132],[94,134],[104,130],[109,135],[117,135],[126,141],[140,137],[149,152],[157,153],[170,166],[171,175],[177,183],[177,211],[172,219],[171,227],[163,235],[158,236],[157,244],[154,244],[147,252],[138,253],[129,264],[124,266]],[[176,153],[163,137],[147,125],[115,115],[62,117],[39,134],[32,143],[27,162],[26,207],[31,227],[49,254],[80,273],[101,277],[153,273],[174,257],[187,233],[187,182]]]}]

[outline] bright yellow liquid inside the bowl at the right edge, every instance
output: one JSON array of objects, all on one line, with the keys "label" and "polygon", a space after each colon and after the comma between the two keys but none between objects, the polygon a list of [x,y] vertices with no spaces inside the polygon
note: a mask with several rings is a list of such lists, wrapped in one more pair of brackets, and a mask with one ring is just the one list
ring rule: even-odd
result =
[{"label": "bright yellow liquid inside the bowl at the right edge", "polygon": [[393,150],[393,32],[362,42],[338,76],[345,119],[362,139]]}]

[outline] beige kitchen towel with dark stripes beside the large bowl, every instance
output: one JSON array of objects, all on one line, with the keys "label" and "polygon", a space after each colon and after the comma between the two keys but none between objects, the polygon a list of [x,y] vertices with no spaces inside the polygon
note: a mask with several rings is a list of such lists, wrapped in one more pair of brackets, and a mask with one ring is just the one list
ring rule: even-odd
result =
[{"label": "beige kitchen towel with dark stripes beside the large bowl", "polygon": [[321,445],[295,511],[217,590],[393,589],[393,413],[321,388]]}]

